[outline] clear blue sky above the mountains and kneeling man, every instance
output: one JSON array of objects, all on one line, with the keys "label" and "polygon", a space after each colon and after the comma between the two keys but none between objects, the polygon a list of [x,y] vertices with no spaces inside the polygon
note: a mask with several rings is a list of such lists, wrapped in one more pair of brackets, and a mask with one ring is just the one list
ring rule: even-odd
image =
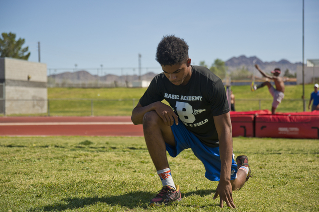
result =
[{"label": "clear blue sky above the mountains and kneeling man", "polygon": [[[160,68],[156,48],[167,34],[184,38],[194,65],[241,55],[296,63],[302,62],[302,2],[3,0],[0,33],[25,38],[33,62],[38,61],[40,41],[41,62],[48,69],[73,69],[75,64],[78,70],[101,64],[103,68],[137,68],[139,53],[143,68]],[[307,59],[319,59],[319,0],[305,0],[305,63]],[[121,74],[119,70],[103,72]]]}]

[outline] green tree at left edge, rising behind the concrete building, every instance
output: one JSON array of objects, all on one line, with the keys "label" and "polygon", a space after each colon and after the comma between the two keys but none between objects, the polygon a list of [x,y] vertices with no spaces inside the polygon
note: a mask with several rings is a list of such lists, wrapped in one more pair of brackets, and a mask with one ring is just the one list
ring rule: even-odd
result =
[{"label": "green tree at left edge, rising behind the concrete building", "polygon": [[3,32],[1,35],[2,38],[0,37],[0,57],[28,60],[31,53],[27,52],[29,47],[25,47],[22,49],[22,45],[25,42],[24,39],[19,38],[18,40],[15,40],[15,34],[11,32]]}]

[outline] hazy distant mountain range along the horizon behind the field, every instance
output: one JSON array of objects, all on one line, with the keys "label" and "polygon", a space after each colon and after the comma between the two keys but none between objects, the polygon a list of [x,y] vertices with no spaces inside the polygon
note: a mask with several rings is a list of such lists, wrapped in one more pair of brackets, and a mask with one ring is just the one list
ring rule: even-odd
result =
[{"label": "hazy distant mountain range along the horizon behind the field", "polygon": [[[250,57],[247,58],[246,56],[242,55],[238,58],[233,57],[225,62],[225,65],[227,66],[229,71],[236,71],[238,69],[246,68],[250,72],[255,72],[257,76],[261,76],[261,74],[255,69],[254,65],[258,64],[261,70],[270,73],[270,71],[274,70],[275,68],[280,68],[282,71],[282,74],[288,69],[290,73],[296,73],[297,67],[302,66],[302,63],[290,63],[287,60],[281,60],[279,62],[263,62],[257,57]],[[151,81],[156,73],[148,72],[141,76],[142,80]],[[73,78],[74,77],[74,78]],[[98,78],[99,77],[99,78]],[[74,72],[74,75],[72,72],[63,72],[58,74],[52,74],[49,75],[48,78],[55,78],[56,82],[62,82],[63,80],[68,81],[96,81],[99,79],[99,81],[104,81],[106,83],[113,83],[114,81],[117,81],[119,83],[125,83],[125,81],[132,82],[139,79],[138,75],[114,75],[114,74],[107,74],[104,76],[97,76],[92,75],[88,71],[82,70],[82,71],[76,71]]]}]

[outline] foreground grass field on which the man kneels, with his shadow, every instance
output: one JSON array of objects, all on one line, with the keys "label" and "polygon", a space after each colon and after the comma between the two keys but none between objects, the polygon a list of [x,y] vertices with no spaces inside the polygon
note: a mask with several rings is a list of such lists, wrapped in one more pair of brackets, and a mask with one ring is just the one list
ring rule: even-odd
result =
[{"label": "foreground grass field on which the man kneels, with his shadow", "polygon": [[190,150],[168,157],[183,200],[150,208],[161,183],[144,138],[1,137],[0,211],[319,211],[319,140],[239,137],[234,153],[254,175],[233,193],[236,209],[212,200],[217,182]]}]

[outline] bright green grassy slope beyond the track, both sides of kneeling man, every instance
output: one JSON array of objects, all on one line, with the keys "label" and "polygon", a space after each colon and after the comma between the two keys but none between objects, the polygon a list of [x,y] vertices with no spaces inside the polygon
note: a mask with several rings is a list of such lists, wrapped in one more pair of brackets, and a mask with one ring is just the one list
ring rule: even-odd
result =
[{"label": "bright green grassy slope beyond the track, both sides of kneeling man", "polygon": [[[59,98],[83,98],[95,99],[93,102],[94,116],[130,116],[133,107],[136,106],[146,88],[99,88],[99,89],[81,89],[81,88],[48,88],[49,99]],[[261,109],[271,110],[272,97],[268,89],[262,88],[255,92],[250,91],[250,86],[232,86],[236,99],[237,111],[259,110],[259,101]],[[306,99],[310,98],[313,92],[313,85],[305,85]],[[287,85],[285,98],[277,108],[278,112],[301,112],[303,111],[302,85]],[[103,101],[109,99],[109,101]],[[110,101],[113,100],[113,101]],[[126,101],[117,101],[118,99],[127,99]],[[135,101],[132,101],[135,99]],[[99,101],[98,101],[99,100]],[[164,101],[165,102],[165,101]],[[308,107],[308,100],[307,100]],[[307,108],[308,110],[308,108]],[[55,100],[50,101],[51,116],[90,116],[90,100]]]}]

